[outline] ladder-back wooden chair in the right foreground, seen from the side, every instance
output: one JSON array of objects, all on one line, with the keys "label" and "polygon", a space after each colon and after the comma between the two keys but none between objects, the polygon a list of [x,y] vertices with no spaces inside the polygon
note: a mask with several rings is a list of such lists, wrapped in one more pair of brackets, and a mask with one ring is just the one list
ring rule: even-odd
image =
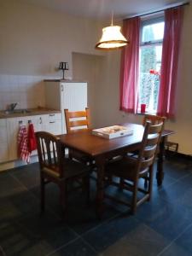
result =
[{"label": "ladder-back wooden chair in the right foreground, seen from the side", "polygon": [[[110,161],[106,164],[106,173],[113,177],[119,177],[121,183],[112,181],[110,185],[115,185],[121,189],[128,189],[132,192],[131,203],[126,201],[120,201],[115,199],[111,195],[106,195],[119,203],[131,206],[131,212],[135,213],[137,206],[144,201],[149,201],[152,194],[153,183],[153,166],[155,154],[157,152],[158,144],[160,143],[160,136],[163,128],[163,122],[157,125],[151,125],[150,122],[146,122],[143,141],[137,157],[131,157],[127,154],[117,161]],[[145,177],[148,179],[148,188],[142,189],[138,186],[139,179]],[[137,199],[137,193],[142,192],[143,197]]]}]

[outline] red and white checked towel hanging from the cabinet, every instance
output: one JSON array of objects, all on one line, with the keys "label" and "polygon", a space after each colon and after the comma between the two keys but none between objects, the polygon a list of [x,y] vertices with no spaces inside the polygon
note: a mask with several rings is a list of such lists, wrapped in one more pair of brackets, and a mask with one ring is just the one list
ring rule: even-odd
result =
[{"label": "red and white checked towel hanging from the cabinet", "polygon": [[20,130],[17,137],[17,144],[18,144],[18,154],[21,160],[26,161],[26,163],[30,162],[30,155],[28,149],[28,138],[26,132],[26,125],[20,125]]}]

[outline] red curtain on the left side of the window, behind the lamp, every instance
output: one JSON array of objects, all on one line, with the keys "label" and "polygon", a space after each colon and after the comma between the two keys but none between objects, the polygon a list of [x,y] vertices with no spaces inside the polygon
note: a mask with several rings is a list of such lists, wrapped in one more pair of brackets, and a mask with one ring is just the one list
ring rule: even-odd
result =
[{"label": "red curtain on the left side of the window, behind the lamp", "polygon": [[120,110],[137,113],[140,18],[124,20],[123,34],[130,42],[121,53]]}]

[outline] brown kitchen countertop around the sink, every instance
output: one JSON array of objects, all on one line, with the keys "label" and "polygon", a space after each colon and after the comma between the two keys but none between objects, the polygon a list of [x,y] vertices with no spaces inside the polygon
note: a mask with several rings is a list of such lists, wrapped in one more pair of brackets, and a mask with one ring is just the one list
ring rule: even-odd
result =
[{"label": "brown kitchen countertop around the sink", "polygon": [[49,114],[49,113],[61,113],[60,110],[49,109],[49,108],[25,108],[25,109],[15,109],[14,112],[1,110],[0,119],[9,119],[15,117],[32,116],[38,114]]}]

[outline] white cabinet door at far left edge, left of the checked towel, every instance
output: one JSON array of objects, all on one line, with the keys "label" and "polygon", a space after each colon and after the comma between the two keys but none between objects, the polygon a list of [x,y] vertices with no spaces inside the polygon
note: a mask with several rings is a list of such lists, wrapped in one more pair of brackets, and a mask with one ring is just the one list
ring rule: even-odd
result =
[{"label": "white cabinet door at far left edge, left of the checked towel", "polygon": [[0,162],[9,160],[7,120],[0,119]]}]

